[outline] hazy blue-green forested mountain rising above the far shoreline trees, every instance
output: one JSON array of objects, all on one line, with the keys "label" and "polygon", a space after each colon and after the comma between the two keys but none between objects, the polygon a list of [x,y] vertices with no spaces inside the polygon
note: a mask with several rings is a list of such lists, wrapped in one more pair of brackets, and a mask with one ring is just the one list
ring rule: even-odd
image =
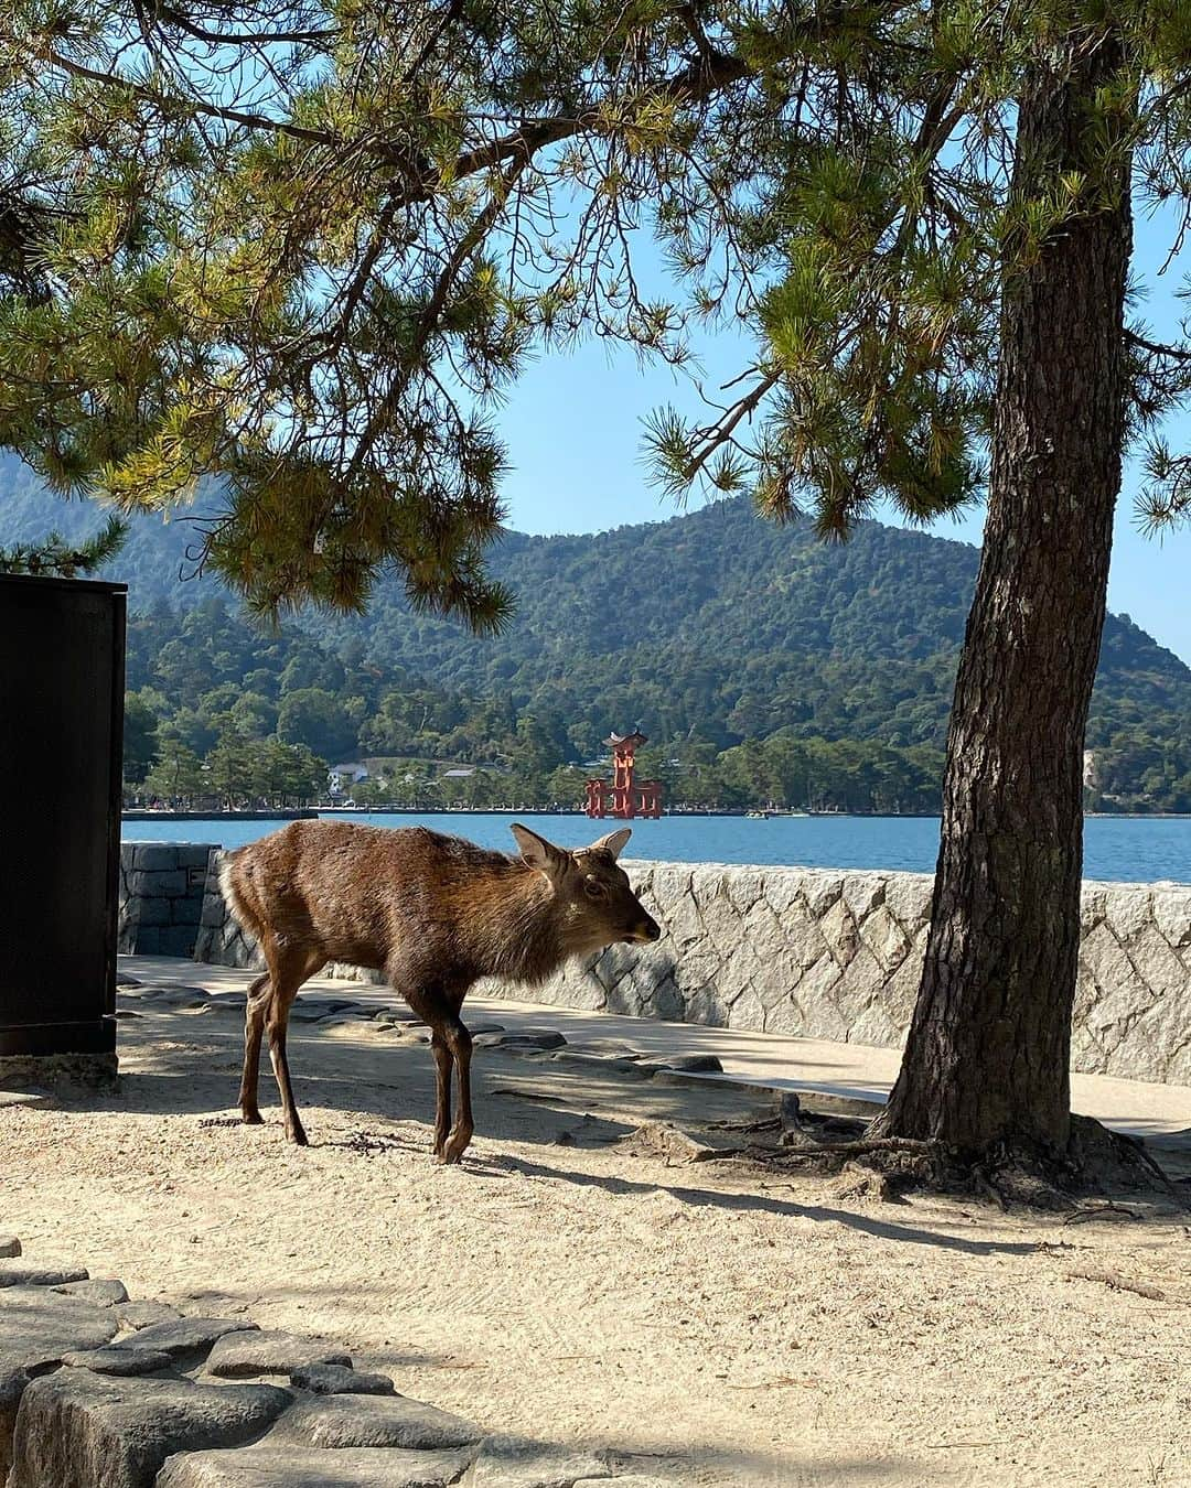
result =
[{"label": "hazy blue-green forested mountain rising above the far shoreline trees", "polygon": [[[51,527],[73,540],[100,521],[0,458],[0,546]],[[695,774],[697,756],[710,768],[731,750],[738,765],[749,741],[776,741],[770,756],[847,743],[884,759],[887,783],[907,775],[908,793],[883,798],[907,808],[936,790],[978,561],[969,545],[877,522],[825,546],[808,524],[779,528],[731,500],[598,536],[508,533],[493,568],[518,613],[497,638],[411,613],[396,583],[381,585],[366,616],[304,615],[271,635],[213,580],[189,577],[194,543],[186,519],[137,519],[109,576],[130,583],[143,615],[130,689],[147,689],[147,705],[197,754],[226,716],[322,754],[533,756],[552,769],[640,722]],[[1111,616],[1088,740],[1097,798],[1108,798],[1096,804],[1191,808],[1188,738],[1191,670]],[[782,771],[765,765],[765,790],[759,756],[749,757],[744,796],[813,793],[796,784],[805,747],[780,789]],[[910,775],[920,777],[913,789]],[[716,775],[709,789],[721,786]]]}]

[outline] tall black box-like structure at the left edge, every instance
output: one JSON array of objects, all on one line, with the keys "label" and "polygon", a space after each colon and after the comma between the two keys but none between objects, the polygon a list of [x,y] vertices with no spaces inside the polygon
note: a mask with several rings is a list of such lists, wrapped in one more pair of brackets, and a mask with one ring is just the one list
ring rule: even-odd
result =
[{"label": "tall black box-like structure at the left edge", "polygon": [[116,1048],[125,592],[0,574],[0,1056]]}]

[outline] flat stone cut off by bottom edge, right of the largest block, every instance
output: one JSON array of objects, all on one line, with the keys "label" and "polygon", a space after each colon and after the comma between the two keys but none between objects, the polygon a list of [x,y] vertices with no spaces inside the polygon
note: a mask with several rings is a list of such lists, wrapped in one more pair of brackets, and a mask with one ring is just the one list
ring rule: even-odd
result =
[{"label": "flat stone cut off by bottom edge, right of the largest block", "polygon": [[470,1452],[356,1448],[338,1452],[253,1446],[243,1452],[171,1457],[156,1488],[445,1488]]}]

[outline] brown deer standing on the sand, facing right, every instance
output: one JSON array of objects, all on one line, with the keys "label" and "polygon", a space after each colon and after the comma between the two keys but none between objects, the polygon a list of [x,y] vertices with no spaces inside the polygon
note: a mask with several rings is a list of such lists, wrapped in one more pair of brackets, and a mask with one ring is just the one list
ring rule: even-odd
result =
[{"label": "brown deer standing on the sand, facing right", "polygon": [[[286,1061],[289,1009],[328,961],[347,961],[383,970],[429,1025],[438,1070],[435,1158],[459,1162],[473,1129],[472,1037],[459,1016],[472,984],[481,976],[543,982],[572,955],[661,936],[616,866],[628,827],[573,853],[520,823],[512,835],[520,859],[424,827],[293,821],[228,856],[223,897],[266,966],[249,988],[246,1122],[261,1120],[256,1089],[268,1028],[286,1135],[305,1146]],[[448,1128],[453,1073],[459,1106]]]}]

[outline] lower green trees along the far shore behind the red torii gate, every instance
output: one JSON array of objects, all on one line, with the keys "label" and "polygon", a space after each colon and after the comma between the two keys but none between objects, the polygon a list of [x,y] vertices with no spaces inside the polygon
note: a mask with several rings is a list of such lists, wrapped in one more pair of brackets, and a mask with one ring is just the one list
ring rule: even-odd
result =
[{"label": "lower green trees along the far shore behind the red torii gate", "polygon": [[[689,690],[697,677],[682,686]],[[161,601],[132,616],[128,689],[130,798],[176,802],[316,801],[329,765],[369,760],[369,780],[348,786],[362,805],[566,806],[582,799],[609,726],[637,722],[596,704],[563,711],[540,696],[517,701],[512,689],[435,684],[369,661],[359,637],[331,649],[301,629],[262,632],[222,597],[186,612]],[[868,705],[878,701],[874,693]],[[938,809],[936,743],[907,743],[898,731],[887,741],[832,738],[814,731],[814,717],[774,728],[771,710],[747,711],[734,710],[734,743],[724,741],[722,720],[706,735],[660,738],[654,720],[642,719],[652,735],[642,775],[661,778],[668,802],[695,808]],[[1188,745],[1146,735],[1124,713],[1114,720],[1102,710],[1097,720],[1105,743],[1090,806],[1191,809]],[[472,772],[448,774],[453,766]]]}]

